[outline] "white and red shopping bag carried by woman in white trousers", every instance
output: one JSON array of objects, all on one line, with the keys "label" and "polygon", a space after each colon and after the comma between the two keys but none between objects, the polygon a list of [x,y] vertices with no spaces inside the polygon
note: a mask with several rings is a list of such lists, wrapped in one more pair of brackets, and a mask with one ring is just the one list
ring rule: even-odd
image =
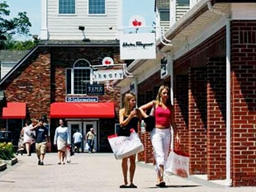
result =
[{"label": "white and red shopping bag carried by woman in white trousers", "polygon": [[189,175],[188,154],[178,150],[170,152],[165,165],[165,173],[186,178]]}]

